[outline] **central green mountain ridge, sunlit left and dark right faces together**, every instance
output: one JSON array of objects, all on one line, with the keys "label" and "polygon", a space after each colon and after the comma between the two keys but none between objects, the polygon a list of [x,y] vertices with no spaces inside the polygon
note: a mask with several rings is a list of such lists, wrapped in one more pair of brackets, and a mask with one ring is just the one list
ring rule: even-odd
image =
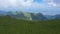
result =
[{"label": "central green mountain ridge, sunlit left and dark right faces together", "polygon": [[8,15],[17,19],[24,20],[45,20],[46,17],[41,13],[29,13],[29,12],[8,12]]}]

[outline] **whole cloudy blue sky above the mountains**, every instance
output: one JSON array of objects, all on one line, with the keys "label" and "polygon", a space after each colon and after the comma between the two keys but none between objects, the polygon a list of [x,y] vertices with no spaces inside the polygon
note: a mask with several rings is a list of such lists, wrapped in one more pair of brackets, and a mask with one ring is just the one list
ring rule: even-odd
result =
[{"label": "whole cloudy blue sky above the mountains", "polygon": [[0,0],[0,10],[60,14],[60,0]]}]

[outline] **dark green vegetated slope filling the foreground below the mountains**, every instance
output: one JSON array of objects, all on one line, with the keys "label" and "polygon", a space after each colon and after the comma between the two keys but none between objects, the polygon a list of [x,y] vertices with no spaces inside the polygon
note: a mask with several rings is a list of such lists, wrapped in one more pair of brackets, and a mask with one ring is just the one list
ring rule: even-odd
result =
[{"label": "dark green vegetated slope filling the foreground below the mountains", "polygon": [[1,16],[0,34],[60,34],[60,19],[26,21]]}]

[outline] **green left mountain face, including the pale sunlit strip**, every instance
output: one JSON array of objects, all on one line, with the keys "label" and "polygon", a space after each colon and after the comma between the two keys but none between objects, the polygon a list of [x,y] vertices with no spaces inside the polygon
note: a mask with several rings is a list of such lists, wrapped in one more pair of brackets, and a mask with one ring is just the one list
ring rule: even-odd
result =
[{"label": "green left mountain face, including the pale sunlit strip", "polygon": [[30,13],[28,12],[8,12],[8,15],[10,15],[13,18],[17,19],[24,19],[24,20],[32,20]]}]

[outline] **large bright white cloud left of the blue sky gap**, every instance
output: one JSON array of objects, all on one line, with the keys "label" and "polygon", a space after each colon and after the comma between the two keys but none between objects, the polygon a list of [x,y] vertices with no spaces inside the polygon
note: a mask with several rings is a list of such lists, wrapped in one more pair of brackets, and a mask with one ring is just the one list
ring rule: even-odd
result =
[{"label": "large bright white cloud left of the blue sky gap", "polygon": [[0,0],[0,7],[28,7],[33,0]]}]

